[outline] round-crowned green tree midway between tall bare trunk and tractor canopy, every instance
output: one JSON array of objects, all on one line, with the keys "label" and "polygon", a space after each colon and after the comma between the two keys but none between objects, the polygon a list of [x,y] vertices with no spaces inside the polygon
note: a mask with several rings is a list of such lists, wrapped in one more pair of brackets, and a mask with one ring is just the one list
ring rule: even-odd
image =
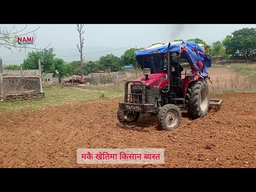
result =
[{"label": "round-crowned green tree midway between tall bare trunk and tractor canopy", "polygon": [[121,59],[113,54],[107,54],[106,56],[101,56],[98,61],[99,70],[110,70],[118,71],[122,67]]}]

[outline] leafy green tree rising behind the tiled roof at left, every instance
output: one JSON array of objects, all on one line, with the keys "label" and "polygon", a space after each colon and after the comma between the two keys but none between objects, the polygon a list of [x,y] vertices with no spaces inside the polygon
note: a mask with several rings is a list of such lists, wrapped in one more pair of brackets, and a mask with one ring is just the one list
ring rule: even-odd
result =
[{"label": "leafy green tree rising behind the tiled roof at left", "polygon": [[42,72],[51,72],[56,54],[53,52],[53,48],[28,52],[27,59],[24,59],[22,67],[24,69],[38,69],[38,59],[41,60]]}]

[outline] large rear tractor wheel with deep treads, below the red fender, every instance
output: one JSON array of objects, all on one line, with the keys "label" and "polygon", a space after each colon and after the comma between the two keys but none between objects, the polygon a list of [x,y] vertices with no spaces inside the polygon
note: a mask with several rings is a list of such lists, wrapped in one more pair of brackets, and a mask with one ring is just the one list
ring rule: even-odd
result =
[{"label": "large rear tractor wheel with deep treads, below the red fender", "polygon": [[196,119],[206,116],[209,102],[209,88],[205,80],[197,80],[188,86],[186,107],[191,118]]}]

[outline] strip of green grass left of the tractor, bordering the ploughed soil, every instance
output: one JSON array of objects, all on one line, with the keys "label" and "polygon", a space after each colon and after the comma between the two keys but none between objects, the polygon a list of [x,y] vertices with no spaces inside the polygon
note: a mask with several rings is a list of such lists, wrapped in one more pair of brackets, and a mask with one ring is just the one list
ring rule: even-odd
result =
[{"label": "strip of green grass left of the tractor, bordering the ploughed soil", "polygon": [[[115,89],[106,89],[104,98],[122,98],[124,96],[124,89],[122,84]],[[84,100],[100,99],[97,88],[77,89],[71,87],[60,86],[45,86],[43,87],[45,98],[40,101],[26,100],[18,102],[0,102],[0,111],[16,110],[25,107],[32,109],[40,109],[54,104],[61,104],[64,102],[79,102]]]}]

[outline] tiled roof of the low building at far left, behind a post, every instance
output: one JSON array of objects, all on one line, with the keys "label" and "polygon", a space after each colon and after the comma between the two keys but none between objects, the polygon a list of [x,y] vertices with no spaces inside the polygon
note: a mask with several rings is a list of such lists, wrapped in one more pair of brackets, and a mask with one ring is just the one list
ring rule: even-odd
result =
[{"label": "tiled roof of the low building at far left, behind a post", "polygon": [[[23,78],[39,78],[39,70],[22,70]],[[21,78],[20,70],[3,70],[4,78]]]}]

